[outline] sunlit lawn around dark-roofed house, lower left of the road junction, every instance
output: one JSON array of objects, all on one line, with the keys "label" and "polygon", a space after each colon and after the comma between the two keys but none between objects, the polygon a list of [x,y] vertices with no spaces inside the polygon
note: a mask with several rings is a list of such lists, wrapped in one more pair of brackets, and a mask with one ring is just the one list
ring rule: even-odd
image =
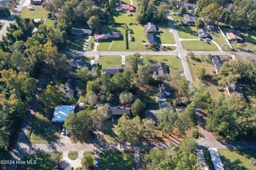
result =
[{"label": "sunlit lawn around dark-roofed house, lower left of the road junction", "polygon": [[170,72],[174,71],[174,70],[183,71],[181,61],[176,56],[148,56],[148,55],[146,55],[146,56],[143,56],[143,62],[145,64],[163,62],[166,64],[167,68],[169,68]]}]

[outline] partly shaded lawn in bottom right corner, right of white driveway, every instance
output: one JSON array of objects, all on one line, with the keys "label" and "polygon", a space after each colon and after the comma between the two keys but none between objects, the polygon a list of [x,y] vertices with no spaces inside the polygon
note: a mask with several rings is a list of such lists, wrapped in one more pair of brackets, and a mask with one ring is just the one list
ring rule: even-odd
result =
[{"label": "partly shaded lawn in bottom right corner, right of white driveway", "polygon": [[250,158],[256,157],[256,150],[218,149],[225,170],[255,170]]}]

